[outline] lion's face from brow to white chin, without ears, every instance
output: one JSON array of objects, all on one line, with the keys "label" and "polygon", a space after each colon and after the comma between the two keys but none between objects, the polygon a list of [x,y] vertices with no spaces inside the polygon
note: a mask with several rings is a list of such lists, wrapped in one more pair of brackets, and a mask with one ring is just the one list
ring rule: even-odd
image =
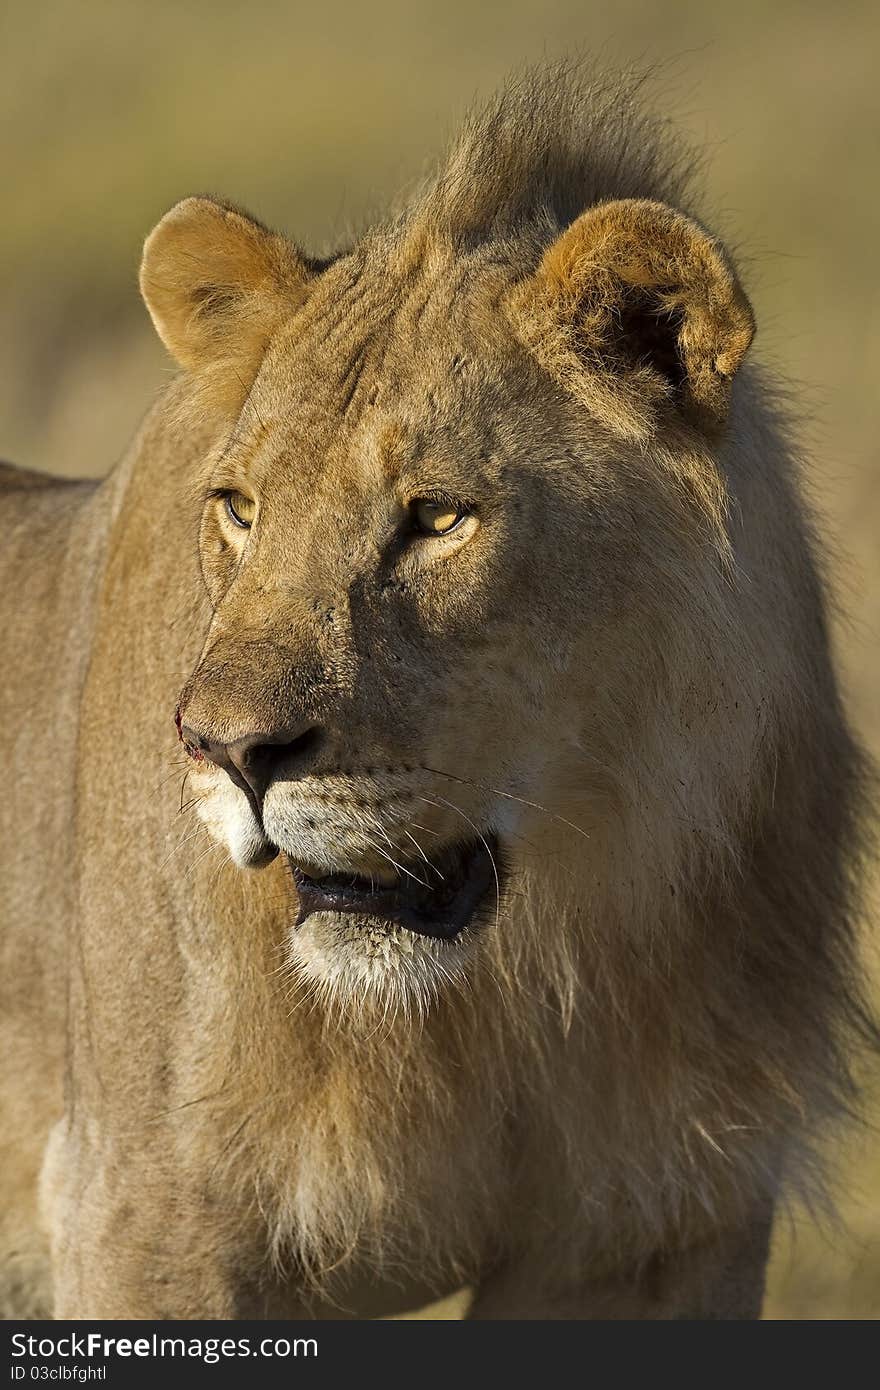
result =
[{"label": "lion's face from brow to white chin, without ears", "polygon": [[257,738],[196,790],[239,863],[288,856],[295,955],[423,986],[494,922],[517,798],[553,801],[573,755],[592,489],[553,477],[557,392],[482,281],[402,285],[389,321],[364,278],[325,272],[211,461],[215,619],[181,719],[196,752]]}]

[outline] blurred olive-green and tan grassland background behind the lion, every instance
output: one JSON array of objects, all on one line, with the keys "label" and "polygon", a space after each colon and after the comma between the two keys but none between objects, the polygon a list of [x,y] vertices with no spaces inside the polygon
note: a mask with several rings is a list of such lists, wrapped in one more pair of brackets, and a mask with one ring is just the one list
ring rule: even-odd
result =
[{"label": "blurred olive-green and tan grassland background behind the lion", "polygon": [[[175,199],[224,195],[318,252],[506,71],[576,53],[659,64],[655,101],[706,150],[755,350],[804,404],[849,705],[879,755],[876,0],[7,0],[0,456],[100,474],[124,450],[170,373],[136,268]],[[866,967],[880,979],[870,942]],[[841,1136],[833,1165],[840,1225],[779,1223],[769,1316],[880,1315],[880,1138]]]}]

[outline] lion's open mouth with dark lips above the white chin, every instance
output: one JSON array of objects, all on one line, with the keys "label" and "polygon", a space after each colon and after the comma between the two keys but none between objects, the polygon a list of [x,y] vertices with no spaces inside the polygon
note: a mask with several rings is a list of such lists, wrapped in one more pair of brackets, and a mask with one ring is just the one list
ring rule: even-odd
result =
[{"label": "lion's open mouth with dark lips above the white chin", "polygon": [[345,912],[385,927],[406,927],[420,937],[452,941],[474,922],[498,891],[498,841],[452,845],[431,862],[407,865],[393,884],[350,873],[311,877],[291,862],[299,897],[296,926],[314,912]]}]

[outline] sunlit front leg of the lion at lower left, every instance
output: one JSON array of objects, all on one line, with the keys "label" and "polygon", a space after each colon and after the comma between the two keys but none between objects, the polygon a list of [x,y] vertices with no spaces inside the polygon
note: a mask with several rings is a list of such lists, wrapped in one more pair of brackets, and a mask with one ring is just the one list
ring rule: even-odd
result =
[{"label": "sunlit front leg of the lion at lower left", "polygon": [[281,1315],[253,1218],[211,1197],[209,1176],[181,1177],[154,1144],[147,1156],[58,1125],[42,1182],[54,1316]]}]

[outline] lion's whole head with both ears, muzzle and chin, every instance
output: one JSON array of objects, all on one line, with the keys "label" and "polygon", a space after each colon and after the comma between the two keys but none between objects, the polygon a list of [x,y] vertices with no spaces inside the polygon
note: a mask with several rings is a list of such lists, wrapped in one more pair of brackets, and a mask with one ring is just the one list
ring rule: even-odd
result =
[{"label": "lion's whole head with both ears, muzzle and chin", "polygon": [[730,659],[731,263],[665,202],[569,206],[571,170],[524,203],[494,138],[482,183],[466,136],[327,261],[193,197],[142,267],[220,423],[178,710],[200,815],[238,865],[289,860],[300,973],[385,1008],[466,979],[524,877],[620,887],[637,823],[628,891],[674,894],[677,826],[724,838],[758,741]]}]

